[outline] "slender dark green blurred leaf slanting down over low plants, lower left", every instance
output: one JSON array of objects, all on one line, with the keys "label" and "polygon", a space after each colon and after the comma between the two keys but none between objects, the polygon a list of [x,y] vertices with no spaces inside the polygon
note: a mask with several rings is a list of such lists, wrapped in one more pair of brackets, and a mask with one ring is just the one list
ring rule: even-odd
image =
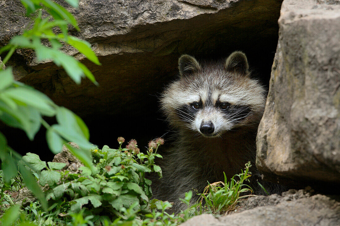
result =
[{"label": "slender dark green blurred leaf slanting down over low plants, lower left", "polygon": [[30,171],[28,171],[24,165],[19,163],[19,172],[22,175],[23,182],[26,184],[27,188],[30,189],[33,194],[37,197],[40,201],[41,205],[43,206],[44,210],[47,211],[47,201],[43,191],[41,191],[39,185],[37,184],[35,178],[32,176]]}]

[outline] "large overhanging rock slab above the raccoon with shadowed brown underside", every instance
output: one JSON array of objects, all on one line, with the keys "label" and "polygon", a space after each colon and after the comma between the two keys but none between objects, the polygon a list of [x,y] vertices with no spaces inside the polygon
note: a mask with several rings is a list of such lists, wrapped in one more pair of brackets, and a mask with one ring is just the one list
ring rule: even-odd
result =
[{"label": "large overhanging rock slab above the raccoon with shadowed brown underside", "polygon": [[[184,53],[219,58],[248,50],[260,64],[263,58],[272,60],[272,50],[261,50],[263,43],[276,45],[282,0],[80,0],[78,8],[58,2],[78,20],[81,32],[70,33],[91,43],[102,66],[84,60],[74,49],[64,51],[81,59],[100,86],[87,79],[77,86],[64,70],[48,61],[36,62],[27,50],[17,51],[8,65],[17,80],[80,116],[93,117],[126,114],[131,106],[129,114],[135,116],[148,116],[151,108],[157,111],[154,95],[177,74],[177,59]],[[29,27],[29,19],[19,0],[0,0],[0,8],[4,45]]]}]

